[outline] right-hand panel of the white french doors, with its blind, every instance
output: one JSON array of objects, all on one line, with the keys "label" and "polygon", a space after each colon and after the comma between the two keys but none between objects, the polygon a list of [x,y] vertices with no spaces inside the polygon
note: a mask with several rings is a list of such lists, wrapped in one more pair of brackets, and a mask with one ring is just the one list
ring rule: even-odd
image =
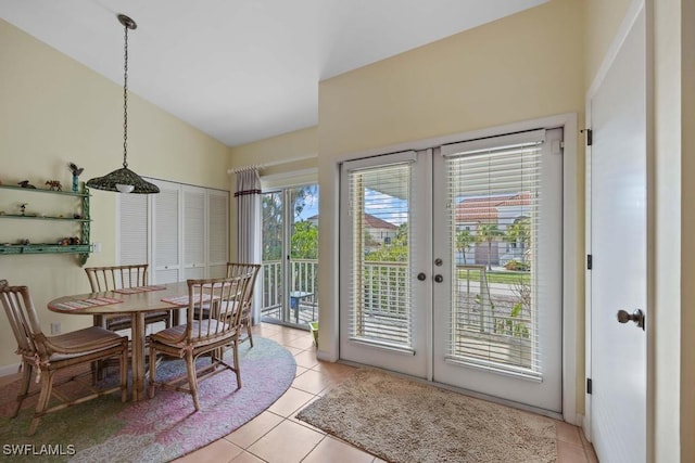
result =
[{"label": "right-hand panel of the white french doors, with its blind", "polygon": [[563,130],[434,156],[433,380],[561,412]]}]

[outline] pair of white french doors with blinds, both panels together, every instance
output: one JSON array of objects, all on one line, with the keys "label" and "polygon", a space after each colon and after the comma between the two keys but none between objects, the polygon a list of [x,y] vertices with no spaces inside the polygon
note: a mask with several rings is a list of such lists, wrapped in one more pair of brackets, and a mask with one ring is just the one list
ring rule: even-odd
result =
[{"label": "pair of white french doors with blinds, both panels together", "polygon": [[341,358],[560,412],[560,146],[535,130],[344,163]]}]

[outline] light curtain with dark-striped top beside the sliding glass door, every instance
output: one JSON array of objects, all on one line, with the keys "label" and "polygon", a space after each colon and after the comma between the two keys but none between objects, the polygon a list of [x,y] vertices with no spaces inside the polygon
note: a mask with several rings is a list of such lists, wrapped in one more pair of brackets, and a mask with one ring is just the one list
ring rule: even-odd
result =
[{"label": "light curtain with dark-striped top beside the sliding glass door", "polygon": [[[254,167],[237,171],[237,261],[262,263],[261,256],[261,178]],[[263,270],[261,270],[263,272]],[[252,304],[252,323],[261,321],[263,275],[256,279]]]}]

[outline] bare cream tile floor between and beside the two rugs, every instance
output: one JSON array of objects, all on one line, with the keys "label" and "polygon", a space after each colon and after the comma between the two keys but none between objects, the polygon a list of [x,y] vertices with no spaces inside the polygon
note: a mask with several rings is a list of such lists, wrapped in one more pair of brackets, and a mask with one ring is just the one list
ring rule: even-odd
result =
[{"label": "bare cream tile floor between and beside the two rugs", "polygon": [[[294,419],[296,412],[340,384],[354,369],[316,360],[308,332],[263,323],[255,333],[285,346],[296,360],[292,386],[268,410],[215,442],[176,463],[369,463],[382,460]],[[558,463],[598,462],[591,443],[576,426],[557,422]]]}]

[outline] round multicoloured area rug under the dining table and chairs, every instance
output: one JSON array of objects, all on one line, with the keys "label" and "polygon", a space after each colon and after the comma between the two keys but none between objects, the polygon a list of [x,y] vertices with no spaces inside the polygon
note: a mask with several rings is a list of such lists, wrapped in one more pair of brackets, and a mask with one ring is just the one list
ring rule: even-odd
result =
[{"label": "round multicoloured area rug under the dining table and chairs", "polygon": [[[25,400],[16,419],[9,419],[20,382],[0,388],[0,452],[10,461],[167,462],[219,439],[258,415],[292,384],[296,363],[277,343],[254,336],[239,346],[241,384],[226,371],[199,383],[201,410],[190,395],[157,389],[152,399],[121,402],[121,395],[49,413],[37,433],[27,437],[34,400]],[[210,359],[200,359],[210,362]],[[117,375],[117,368],[109,369]],[[181,360],[163,362],[157,378],[186,371]],[[113,378],[105,378],[108,383]],[[33,386],[34,387],[34,386]],[[65,388],[76,387],[74,383]],[[70,390],[67,393],[71,393]],[[26,403],[26,402],[29,403]],[[28,446],[21,447],[16,446]],[[11,456],[11,454],[23,455]],[[55,454],[58,453],[58,454]]]}]

